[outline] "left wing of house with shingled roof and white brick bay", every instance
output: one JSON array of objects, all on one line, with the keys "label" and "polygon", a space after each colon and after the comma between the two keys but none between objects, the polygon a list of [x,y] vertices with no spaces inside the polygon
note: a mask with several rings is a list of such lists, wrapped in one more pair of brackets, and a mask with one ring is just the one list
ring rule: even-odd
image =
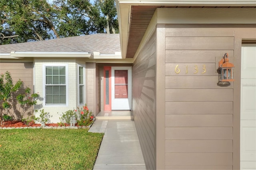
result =
[{"label": "left wing of house with shingled roof and white brick bay", "polygon": [[[34,109],[49,112],[52,123],[60,122],[62,113],[85,103],[94,115],[98,114],[102,105],[100,65],[123,60],[119,34],[1,45],[0,49],[0,72],[9,71],[14,82],[21,79],[25,87],[38,93],[40,97]],[[36,116],[39,114],[40,111]],[[33,108],[23,116],[30,115],[33,115]],[[22,116],[18,114],[15,118]]]}]

